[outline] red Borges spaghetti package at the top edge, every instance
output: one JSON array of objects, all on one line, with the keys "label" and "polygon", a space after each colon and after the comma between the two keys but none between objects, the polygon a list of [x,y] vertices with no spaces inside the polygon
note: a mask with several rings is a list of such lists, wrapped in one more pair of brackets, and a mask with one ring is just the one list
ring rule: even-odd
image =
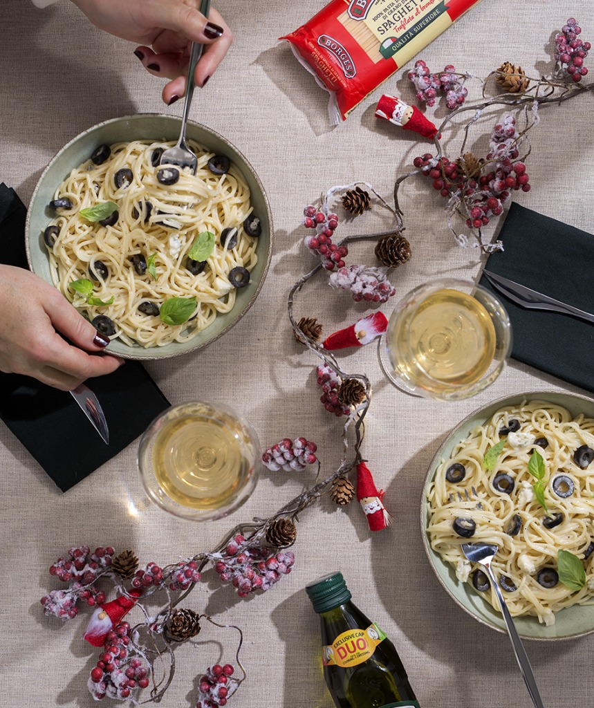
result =
[{"label": "red Borges spaghetti package at the top edge", "polygon": [[480,0],[332,0],[281,40],[330,93],[333,124]]}]

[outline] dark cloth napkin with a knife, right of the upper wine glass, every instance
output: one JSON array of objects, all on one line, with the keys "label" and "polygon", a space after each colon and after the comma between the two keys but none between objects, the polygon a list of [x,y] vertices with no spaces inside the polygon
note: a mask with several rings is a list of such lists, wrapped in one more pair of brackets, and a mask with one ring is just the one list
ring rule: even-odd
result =
[{"label": "dark cloth napkin with a knife, right of the upper wine glass", "polygon": [[[594,313],[592,234],[514,202],[499,238],[505,250],[489,256],[487,270]],[[484,276],[480,284],[495,292],[508,311],[514,359],[594,392],[594,324],[520,307]]]}]

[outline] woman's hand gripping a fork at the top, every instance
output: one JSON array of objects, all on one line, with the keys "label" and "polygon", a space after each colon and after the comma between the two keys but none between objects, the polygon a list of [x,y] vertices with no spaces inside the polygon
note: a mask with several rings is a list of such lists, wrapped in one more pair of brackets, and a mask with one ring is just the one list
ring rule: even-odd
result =
[{"label": "woman's hand gripping a fork at the top", "polygon": [[72,0],[98,28],[137,42],[135,55],[154,76],[173,79],[163,89],[168,105],[185,96],[185,74],[192,42],[204,52],[195,71],[204,86],[221,63],[233,36],[223,18],[211,9],[200,14],[200,0]]}]

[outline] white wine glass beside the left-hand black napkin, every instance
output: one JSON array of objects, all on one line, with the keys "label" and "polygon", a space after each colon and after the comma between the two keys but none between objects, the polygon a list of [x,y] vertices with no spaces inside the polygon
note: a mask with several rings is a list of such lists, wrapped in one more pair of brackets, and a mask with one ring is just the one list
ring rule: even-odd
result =
[{"label": "white wine glass beside the left-hand black napkin", "polygon": [[219,519],[247,501],[258,480],[256,431],[236,411],[191,401],[155,418],[140,440],[138,468],[157,506],[193,521]]}]

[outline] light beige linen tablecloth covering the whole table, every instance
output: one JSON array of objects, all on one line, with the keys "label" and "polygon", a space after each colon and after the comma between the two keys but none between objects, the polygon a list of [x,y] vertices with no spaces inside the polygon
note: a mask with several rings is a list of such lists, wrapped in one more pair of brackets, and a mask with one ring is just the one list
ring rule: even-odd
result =
[{"label": "light beige linen tablecloth covering the whole table", "polygon": [[[329,125],[326,95],[288,45],[277,41],[322,6],[314,0],[217,4],[234,31],[234,43],[208,86],[196,91],[191,118],[234,142],[261,177],[275,221],[273,262],[258,301],[232,331],[194,355],[147,367],[175,403],[217,399],[242,411],[264,446],[285,436],[315,440],[323,474],[329,474],[341,455],[341,423],[318,403],[316,361],[293,340],[286,314],[292,282],[314,264],[302,246],[302,209],[332,185],[357,180],[371,183],[390,200],[394,178],[430,146],[379,124],[373,114],[382,90],[343,125]],[[571,13],[583,25],[582,37],[594,38],[591,9],[591,2],[576,6],[568,0],[484,0],[420,56],[433,71],[452,63],[486,76],[510,61],[532,76],[548,73],[554,32]],[[164,108],[162,81],[144,71],[132,54],[134,45],[96,30],[65,0],[45,10],[25,0],[4,0],[0,35],[0,178],[25,202],[47,161],[90,125],[131,113],[181,115],[181,102]],[[469,90],[471,98],[479,98],[478,83],[471,81]],[[389,79],[383,91],[414,101],[405,72]],[[442,118],[442,108],[437,115]],[[530,132],[532,191],[513,193],[513,198],[592,232],[592,96],[549,106],[541,115],[541,124]],[[486,135],[476,135],[469,147],[486,152]],[[394,272],[399,295],[440,275],[476,278],[484,259],[476,249],[454,243],[442,210],[445,200],[423,178],[410,182],[404,185],[402,207],[413,256]],[[337,236],[379,231],[389,223],[374,210],[341,225]],[[361,260],[365,256],[363,246],[351,252]],[[368,257],[367,262],[375,261]],[[384,312],[392,307],[387,303]],[[298,296],[296,309],[299,316],[318,317],[327,333],[362,312],[323,278]],[[418,524],[421,487],[440,442],[476,407],[522,391],[578,389],[512,363],[488,391],[445,404],[396,392],[382,378],[374,346],[342,362],[346,370],[366,372],[372,380],[362,451],[377,485],[386,489],[394,525],[372,536],[356,502],[341,509],[324,498],[302,514],[294,571],[269,592],[240,600],[230,587],[215,589],[217,578],[207,574],[188,606],[219,622],[239,624],[245,633],[242,656],[249,680],[229,707],[331,706],[321,674],[318,619],[304,593],[307,583],[331,569],[343,571],[355,602],[396,644],[423,708],[529,706],[507,637],[459,610],[428,566]],[[58,586],[47,569],[69,547],[132,548],[142,564],[163,565],[211,549],[232,525],[270,515],[299,493],[304,481],[313,481],[310,472],[262,474],[249,504],[232,518],[192,525],[144,502],[135,455],[136,446],[130,445],[62,494],[0,426],[0,705],[93,704],[86,680],[96,652],[81,639],[88,613],[81,610],[62,624],[44,617],[39,604]],[[205,627],[193,646],[177,652],[176,677],[163,705],[195,704],[195,678],[219,658],[233,658],[232,635]],[[547,708],[593,704],[591,638],[532,642],[527,652]]]}]

